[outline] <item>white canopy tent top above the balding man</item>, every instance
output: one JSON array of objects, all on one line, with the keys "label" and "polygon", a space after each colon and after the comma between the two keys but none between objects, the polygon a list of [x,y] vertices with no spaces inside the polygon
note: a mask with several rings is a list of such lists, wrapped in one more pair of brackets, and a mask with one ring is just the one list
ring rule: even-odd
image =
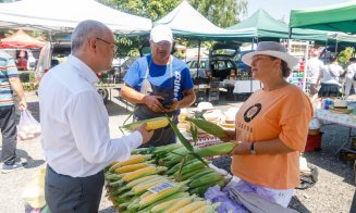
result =
[{"label": "white canopy tent top above the balding man", "polygon": [[22,0],[0,3],[0,28],[71,32],[84,20],[105,23],[115,34],[147,34],[149,18],[120,12],[94,0]]}]

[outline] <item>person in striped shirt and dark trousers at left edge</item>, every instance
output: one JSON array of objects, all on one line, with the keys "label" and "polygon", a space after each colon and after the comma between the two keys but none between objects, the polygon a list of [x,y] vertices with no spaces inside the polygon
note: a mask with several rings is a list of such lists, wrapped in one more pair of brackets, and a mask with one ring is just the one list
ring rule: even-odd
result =
[{"label": "person in striped shirt and dark trousers at left edge", "polygon": [[24,163],[16,161],[16,118],[15,96],[19,109],[26,110],[24,89],[19,78],[15,60],[0,51],[0,128],[2,136],[2,173],[24,168]]}]

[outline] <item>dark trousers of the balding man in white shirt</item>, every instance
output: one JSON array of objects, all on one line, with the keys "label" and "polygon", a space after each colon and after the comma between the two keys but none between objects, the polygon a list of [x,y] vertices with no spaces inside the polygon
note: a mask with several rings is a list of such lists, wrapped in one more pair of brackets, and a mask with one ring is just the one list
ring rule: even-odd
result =
[{"label": "dark trousers of the balding man in white shirt", "polygon": [[48,165],[45,198],[50,212],[98,212],[103,181],[103,171],[87,177],[71,177],[58,174]]}]

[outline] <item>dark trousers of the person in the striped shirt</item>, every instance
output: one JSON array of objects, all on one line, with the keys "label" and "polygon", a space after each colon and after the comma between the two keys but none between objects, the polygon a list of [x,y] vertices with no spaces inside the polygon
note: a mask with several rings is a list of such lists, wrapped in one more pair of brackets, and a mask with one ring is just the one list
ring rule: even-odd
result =
[{"label": "dark trousers of the person in the striped shirt", "polygon": [[0,128],[2,135],[2,160],[7,165],[12,165],[16,160],[16,117],[15,106],[0,106]]}]

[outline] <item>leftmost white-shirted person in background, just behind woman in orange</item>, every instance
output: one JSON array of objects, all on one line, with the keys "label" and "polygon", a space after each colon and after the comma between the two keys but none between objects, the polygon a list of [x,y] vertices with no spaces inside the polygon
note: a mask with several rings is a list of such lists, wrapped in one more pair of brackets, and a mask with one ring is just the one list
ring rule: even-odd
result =
[{"label": "leftmost white-shirted person in background, just behind woman in orange", "polygon": [[316,84],[319,77],[320,71],[323,66],[322,61],[319,60],[319,51],[314,50],[311,53],[311,58],[307,62],[307,77],[310,83],[310,91],[309,93],[314,96],[318,92]]}]

